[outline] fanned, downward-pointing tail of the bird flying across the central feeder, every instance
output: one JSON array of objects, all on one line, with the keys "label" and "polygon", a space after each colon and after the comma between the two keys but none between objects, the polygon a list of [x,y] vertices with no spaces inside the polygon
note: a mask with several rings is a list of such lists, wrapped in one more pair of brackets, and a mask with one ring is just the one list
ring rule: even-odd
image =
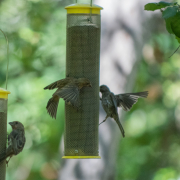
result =
[{"label": "fanned, downward-pointing tail of the bird flying across the central feeder", "polygon": [[51,99],[49,99],[46,106],[46,109],[49,115],[55,119],[56,119],[56,114],[57,114],[58,103],[59,103],[59,97],[54,96]]}]

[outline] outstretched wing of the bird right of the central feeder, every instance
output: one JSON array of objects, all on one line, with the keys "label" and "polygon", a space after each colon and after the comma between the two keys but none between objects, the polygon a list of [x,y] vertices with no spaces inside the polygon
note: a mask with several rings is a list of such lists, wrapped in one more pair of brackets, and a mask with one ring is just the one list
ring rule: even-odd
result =
[{"label": "outstretched wing of the bird right of the central feeder", "polygon": [[133,104],[138,101],[138,98],[147,98],[147,96],[148,91],[115,95],[117,106],[122,107],[125,111],[129,111]]}]

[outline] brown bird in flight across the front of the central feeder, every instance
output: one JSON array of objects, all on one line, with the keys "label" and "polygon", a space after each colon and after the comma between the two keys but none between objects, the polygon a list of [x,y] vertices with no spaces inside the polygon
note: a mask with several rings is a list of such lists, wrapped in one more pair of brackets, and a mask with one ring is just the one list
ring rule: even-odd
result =
[{"label": "brown bird in flight across the front of the central feeder", "polygon": [[56,113],[58,108],[59,99],[63,98],[64,101],[72,105],[75,108],[79,108],[79,92],[83,87],[92,87],[89,79],[87,78],[73,78],[67,77],[65,79],[61,79],[56,81],[44,89],[54,89],[58,88],[56,92],[52,95],[53,97],[49,99],[46,109],[49,115],[52,118],[56,119]]}]

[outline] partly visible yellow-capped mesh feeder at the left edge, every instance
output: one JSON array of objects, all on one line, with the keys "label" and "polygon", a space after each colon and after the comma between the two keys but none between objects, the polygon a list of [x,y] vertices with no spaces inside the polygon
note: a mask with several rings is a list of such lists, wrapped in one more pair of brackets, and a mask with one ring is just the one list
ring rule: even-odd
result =
[{"label": "partly visible yellow-capped mesh feeder at the left edge", "polygon": [[[7,100],[9,91],[0,88],[0,154],[6,151],[7,142]],[[0,180],[5,180],[6,160],[0,162]]]}]

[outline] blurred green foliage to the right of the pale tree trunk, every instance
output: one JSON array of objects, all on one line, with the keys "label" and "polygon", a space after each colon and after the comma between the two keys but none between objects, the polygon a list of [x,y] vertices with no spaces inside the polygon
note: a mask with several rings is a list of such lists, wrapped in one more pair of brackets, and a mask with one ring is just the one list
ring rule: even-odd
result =
[{"label": "blurred green foliage to the right of the pale tree trunk", "polygon": [[143,47],[134,91],[149,96],[126,113],[117,180],[180,179],[180,54],[168,58],[178,46],[164,26]]}]

